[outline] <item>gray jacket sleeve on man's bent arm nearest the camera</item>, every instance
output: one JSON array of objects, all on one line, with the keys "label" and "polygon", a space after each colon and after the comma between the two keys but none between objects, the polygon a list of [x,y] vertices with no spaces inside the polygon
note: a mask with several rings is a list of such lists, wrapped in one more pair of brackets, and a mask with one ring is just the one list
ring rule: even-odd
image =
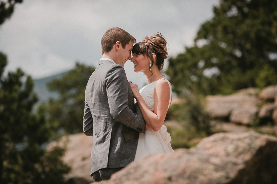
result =
[{"label": "gray jacket sleeve on man's bent arm nearest the camera", "polygon": [[143,117],[133,113],[128,106],[128,85],[125,71],[122,66],[114,65],[107,73],[106,92],[112,117],[141,133],[145,133],[146,123]]}]

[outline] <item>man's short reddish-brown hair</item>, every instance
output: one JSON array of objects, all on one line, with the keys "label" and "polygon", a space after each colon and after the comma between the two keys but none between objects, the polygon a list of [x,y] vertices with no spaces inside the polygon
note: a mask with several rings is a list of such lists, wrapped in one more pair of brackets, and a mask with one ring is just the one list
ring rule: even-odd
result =
[{"label": "man's short reddish-brown hair", "polygon": [[110,28],[101,39],[102,54],[109,52],[117,41],[120,41],[122,47],[125,48],[130,41],[136,43],[137,40],[121,28]]}]

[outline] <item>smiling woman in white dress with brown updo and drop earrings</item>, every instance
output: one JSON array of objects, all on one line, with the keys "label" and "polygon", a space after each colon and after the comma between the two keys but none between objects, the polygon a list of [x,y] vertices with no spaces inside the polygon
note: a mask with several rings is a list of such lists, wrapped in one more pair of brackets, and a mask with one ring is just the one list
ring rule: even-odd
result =
[{"label": "smiling woman in white dress with brown updo and drop earrings", "polygon": [[163,125],[167,109],[171,104],[172,87],[170,82],[160,74],[164,59],[167,58],[166,40],[160,33],[146,36],[142,42],[133,46],[135,72],[143,72],[148,84],[138,89],[136,84],[129,81],[135,98],[147,125],[145,134],[139,134],[139,142],[134,160],[151,153],[171,153],[171,137]]}]

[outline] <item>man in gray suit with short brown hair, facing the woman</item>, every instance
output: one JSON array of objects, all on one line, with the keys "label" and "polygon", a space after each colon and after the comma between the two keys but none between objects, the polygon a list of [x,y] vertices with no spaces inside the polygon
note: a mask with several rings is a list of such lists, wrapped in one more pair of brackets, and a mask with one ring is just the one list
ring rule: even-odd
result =
[{"label": "man in gray suit with short brown hair, facing the woman", "polygon": [[120,28],[106,31],[102,59],[86,86],[83,129],[93,136],[90,155],[94,181],[109,179],[134,160],[146,123],[135,114],[134,97],[123,69],[136,39]]}]

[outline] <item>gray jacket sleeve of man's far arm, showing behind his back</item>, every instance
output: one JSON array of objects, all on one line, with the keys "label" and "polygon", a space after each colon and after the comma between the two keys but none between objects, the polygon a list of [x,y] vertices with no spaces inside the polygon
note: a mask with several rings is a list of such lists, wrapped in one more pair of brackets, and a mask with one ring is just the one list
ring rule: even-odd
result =
[{"label": "gray jacket sleeve of man's far arm, showing behind his back", "polygon": [[86,100],[85,100],[85,110],[84,110],[84,117],[83,117],[83,130],[86,136],[92,136],[93,118]]}]

